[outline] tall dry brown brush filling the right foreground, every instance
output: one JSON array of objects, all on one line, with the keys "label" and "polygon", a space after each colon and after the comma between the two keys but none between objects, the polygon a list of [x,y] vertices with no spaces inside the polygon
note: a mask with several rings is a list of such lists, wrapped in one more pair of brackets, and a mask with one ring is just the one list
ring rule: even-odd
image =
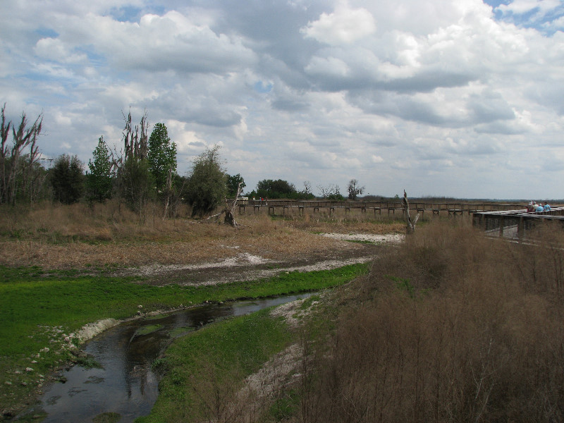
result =
[{"label": "tall dry brown brush filling the right foreground", "polygon": [[[353,283],[300,422],[561,422],[564,251],[436,224]],[[313,364],[311,364],[313,363]]]}]

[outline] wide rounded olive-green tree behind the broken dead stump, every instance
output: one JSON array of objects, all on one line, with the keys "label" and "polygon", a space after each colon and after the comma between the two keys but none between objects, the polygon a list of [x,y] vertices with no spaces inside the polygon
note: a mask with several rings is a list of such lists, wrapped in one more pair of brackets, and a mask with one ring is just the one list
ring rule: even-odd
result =
[{"label": "wide rounded olive-green tree behind the broken dead stump", "polygon": [[192,217],[210,214],[221,204],[227,193],[227,185],[218,145],[196,157],[187,185],[186,201],[192,207]]}]

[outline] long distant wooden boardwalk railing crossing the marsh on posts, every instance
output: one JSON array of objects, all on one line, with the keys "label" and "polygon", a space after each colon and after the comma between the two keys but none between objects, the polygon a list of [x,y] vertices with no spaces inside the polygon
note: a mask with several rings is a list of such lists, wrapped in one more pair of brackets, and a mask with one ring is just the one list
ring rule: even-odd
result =
[{"label": "long distant wooden boardwalk railing crossing the marsh on posts", "polygon": [[[337,209],[343,209],[345,213],[352,209],[360,209],[362,213],[367,211],[374,214],[395,214],[396,211],[403,211],[403,203],[400,201],[382,201],[382,202],[357,202],[357,201],[325,201],[325,200],[245,200],[238,203],[239,213],[244,214],[247,209],[253,212],[267,209],[269,214],[278,212],[286,214],[290,210],[298,210],[299,213],[305,209],[312,209],[312,212],[319,212],[320,209],[327,210],[329,215],[333,214]],[[469,216],[475,212],[487,211],[504,211],[514,210],[521,207],[519,204],[500,204],[500,203],[463,203],[463,202],[412,202],[410,201],[410,209],[416,210],[420,214],[429,212],[432,214],[440,214],[441,212],[448,215],[464,214]]]}]

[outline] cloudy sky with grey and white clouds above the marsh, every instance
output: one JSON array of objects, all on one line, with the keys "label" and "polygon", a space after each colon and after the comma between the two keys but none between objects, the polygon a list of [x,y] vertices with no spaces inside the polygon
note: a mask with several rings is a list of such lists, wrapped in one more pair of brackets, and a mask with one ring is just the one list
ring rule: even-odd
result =
[{"label": "cloudy sky with grey and white clouds above the marsh", "polygon": [[146,112],[178,173],[219,145],[245,191],[564,198],[560,0],[11,0],[0,55],[45,159]]}]

